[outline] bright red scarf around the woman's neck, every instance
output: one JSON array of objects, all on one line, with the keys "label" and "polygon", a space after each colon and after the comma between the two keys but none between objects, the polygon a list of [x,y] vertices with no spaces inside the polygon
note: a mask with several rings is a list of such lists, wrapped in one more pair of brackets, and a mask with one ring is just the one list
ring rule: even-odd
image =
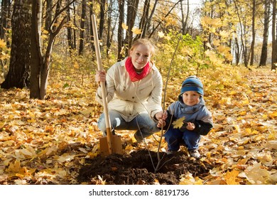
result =
[{"label": "bright red scarf around the woman's neck", "polygon": [[136,82],[143,79],[143,77],[145,77],[148,74],[148,72],[150,71],[150,63],[146,63],[146,65],[143,67],[142,72],[138,74],[134,68],[131,58],[127,58],[125,68],[129,73],[131,81]]}]

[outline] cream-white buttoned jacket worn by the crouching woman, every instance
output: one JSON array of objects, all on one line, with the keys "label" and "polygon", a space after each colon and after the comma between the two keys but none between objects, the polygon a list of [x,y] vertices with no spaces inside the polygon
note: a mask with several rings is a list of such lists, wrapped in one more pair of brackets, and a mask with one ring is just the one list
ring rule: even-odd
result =
[{"label": "cream-white buttoned jacket worn by the crouching woman", "polygon": [[[125,68],[126,58],[112,65],[107,71],[106,90],[108,109],[116,110],[126,122],[145,112],[154,117],[162,110],[161,98],[163,80],[158,68],[153,64],[150,72],[142,80],[132,82]],[[98,87],[97,102],[102,103],[101,88]]]}]

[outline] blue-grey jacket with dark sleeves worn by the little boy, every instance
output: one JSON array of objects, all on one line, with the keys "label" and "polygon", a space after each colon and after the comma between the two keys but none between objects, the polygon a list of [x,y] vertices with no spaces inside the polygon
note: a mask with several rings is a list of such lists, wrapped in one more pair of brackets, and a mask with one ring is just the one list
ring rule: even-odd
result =
[{"label": "blue-grey jacket with dark sleeves worn by the little boy", "polygon": [[205,101],[201,97],[200,102],[194,106],[188,106],[182,101],[176,101],[170,104],[167,109],[168,118],[166,119],[166,126],[163,129],[173,128],[172,123],[181,117],[185,117],[184,125],[180,128],[180,131],[185,131],[187,122],[195,124],[195,131],[200,135],[207,135],[212,129],[212,114],[205,106]]}]

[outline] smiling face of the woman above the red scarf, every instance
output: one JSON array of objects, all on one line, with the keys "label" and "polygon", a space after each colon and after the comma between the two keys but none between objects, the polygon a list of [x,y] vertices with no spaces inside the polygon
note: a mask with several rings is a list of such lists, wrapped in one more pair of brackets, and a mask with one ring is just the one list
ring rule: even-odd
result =
[{"label": "smiling face of the woman above the red scarf", "polygon": [[130,57],[136,71],[141,71],[151,58],[150,48],[140,44],[130,51]]}]

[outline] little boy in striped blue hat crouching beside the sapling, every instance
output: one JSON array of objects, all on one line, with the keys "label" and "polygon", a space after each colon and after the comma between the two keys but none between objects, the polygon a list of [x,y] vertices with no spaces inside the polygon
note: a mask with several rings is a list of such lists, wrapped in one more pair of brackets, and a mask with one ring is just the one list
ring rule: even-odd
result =
[{"label": "little boy in striped blue hat crouching beside the sapling", "polygon": [[[190,156],[200,158],[197,150],[202,135],[212,129],[212,114],[205,107],[204,90],[200,79],[188,77],[182,84],[177,102],[170,104],[166,112],[159,112],[157,127],[165,130],[165,141],[168,143],[167,154],[175,154],[180,144],[188,147]],[[183,118],[183,126],[174,127],[176,119]],[[176,125],[175,125],[176,126]]]}]

